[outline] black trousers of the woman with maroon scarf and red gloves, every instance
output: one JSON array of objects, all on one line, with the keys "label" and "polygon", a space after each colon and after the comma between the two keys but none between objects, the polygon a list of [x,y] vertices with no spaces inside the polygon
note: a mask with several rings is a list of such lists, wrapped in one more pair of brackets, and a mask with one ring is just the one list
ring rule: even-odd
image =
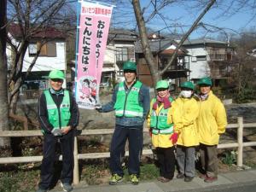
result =
[{"label": "black trousers of the woman with maroon scarf and red gloves", "polygon": [[160,177],[172,179],[175,171],[174,146],[171,148],[155,148],[160,166]]}]

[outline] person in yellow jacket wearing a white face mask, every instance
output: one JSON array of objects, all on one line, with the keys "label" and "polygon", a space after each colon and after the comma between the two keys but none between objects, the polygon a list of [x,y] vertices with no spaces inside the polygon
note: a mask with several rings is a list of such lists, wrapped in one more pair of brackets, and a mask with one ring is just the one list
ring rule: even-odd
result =
[{"label": "person in yellow jacket wearing a white face mask", "polygon": [[196,129],[199,107],[193,98],[194,89],[192,82],[183,82],[180,96],[172,104],[177,117],[177,178],[184,178],[185,182],[190,182],[195,177],[195,146],[199,145]]}]

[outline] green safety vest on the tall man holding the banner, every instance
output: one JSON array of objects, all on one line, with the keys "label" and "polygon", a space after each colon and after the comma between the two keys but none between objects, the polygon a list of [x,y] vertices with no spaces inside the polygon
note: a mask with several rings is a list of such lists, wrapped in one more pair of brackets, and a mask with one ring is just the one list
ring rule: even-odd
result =
[{"label": "green safety vest on the tall man holding the banner", "polygon": [[139,90],[142,85],[140,81],[137,81],[127,94],[125,91],[125,83],[122,82],[119,84],[116,102],[113,107],[115,109],[115,116],[143,118],[143,107],[139,105]]}]

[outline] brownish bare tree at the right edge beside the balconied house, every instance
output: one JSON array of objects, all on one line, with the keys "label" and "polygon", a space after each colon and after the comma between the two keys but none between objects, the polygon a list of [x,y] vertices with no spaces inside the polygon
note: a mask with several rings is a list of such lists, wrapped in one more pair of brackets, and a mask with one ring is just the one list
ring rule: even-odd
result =
[{"label": "brownish bare tree at the right edge beside the balconied house", "polygon": [[231,38],[230,43],[236,46],[236,55],[230,72],[230,86],[237,102],[255,100],[255,61],[252,51],[256,48],[256,32],[241,32],[240,36]]}]

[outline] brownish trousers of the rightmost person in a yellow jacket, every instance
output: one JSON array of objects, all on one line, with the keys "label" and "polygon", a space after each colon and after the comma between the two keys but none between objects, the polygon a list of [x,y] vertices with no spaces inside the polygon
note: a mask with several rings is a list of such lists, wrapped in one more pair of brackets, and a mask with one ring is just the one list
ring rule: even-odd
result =
[{"label": "brownish trousers of the rightmost person in a yellow jacket", "polygon": [[199,152],[201,156],[201,166],[207,177],[218,176],[218,152],[217,145],[205,145],[200,143]]}]

